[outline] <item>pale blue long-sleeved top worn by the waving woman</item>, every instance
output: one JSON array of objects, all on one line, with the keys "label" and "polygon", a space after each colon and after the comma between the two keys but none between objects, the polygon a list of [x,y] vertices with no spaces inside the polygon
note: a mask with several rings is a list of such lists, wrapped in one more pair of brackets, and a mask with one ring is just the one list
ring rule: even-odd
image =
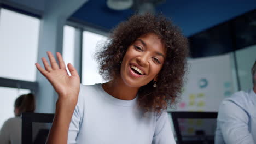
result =
[{"label": "pale blue long-sleeved top worn by the waving woman", "polygon": [[120,100],[102,85],[80,85],[78,104],[68,131],[68,143],[175,143],[167,112],[143,113],[137,98]]}]

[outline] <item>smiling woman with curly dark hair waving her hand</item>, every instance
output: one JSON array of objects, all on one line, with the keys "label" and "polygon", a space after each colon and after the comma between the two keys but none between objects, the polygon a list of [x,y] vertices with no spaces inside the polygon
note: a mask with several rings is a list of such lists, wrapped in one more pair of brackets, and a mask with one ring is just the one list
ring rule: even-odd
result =
[{"label": "smiling woman with curly dark hair waving her hand", "polygon": [[[38,70],[59,94],[48,143],[175,143],[167,106],[183,86],[187,39],[162,16],[133,15],[97,53],[102,85],[79,86],[57,53]],[[73,116],[72,116],[73,115]]]}]

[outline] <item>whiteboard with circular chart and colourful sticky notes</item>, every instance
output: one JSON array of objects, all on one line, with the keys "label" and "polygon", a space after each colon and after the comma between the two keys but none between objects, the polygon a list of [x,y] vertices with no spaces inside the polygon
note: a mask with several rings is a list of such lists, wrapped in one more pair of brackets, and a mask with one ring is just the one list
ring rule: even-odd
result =
[{"label": "whiteboard with circular chart and colourful sticky notes", "polygon": [[181,100],[175,111],[217,112],[233,93],[231,55],[191,59]]}]

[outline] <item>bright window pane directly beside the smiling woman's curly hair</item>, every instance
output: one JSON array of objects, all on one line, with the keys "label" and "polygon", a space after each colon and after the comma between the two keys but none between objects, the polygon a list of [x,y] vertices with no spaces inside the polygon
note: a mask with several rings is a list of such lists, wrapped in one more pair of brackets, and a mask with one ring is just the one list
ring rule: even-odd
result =
[{"label": "bright window pane directly beside the smiling woman's curly hair", "polygon": [[88,31],[83,32],[82,83],[84,85],[105,82],[98,74],[98,63],[94,58],[94,54],[106,40],[106,36]]}]

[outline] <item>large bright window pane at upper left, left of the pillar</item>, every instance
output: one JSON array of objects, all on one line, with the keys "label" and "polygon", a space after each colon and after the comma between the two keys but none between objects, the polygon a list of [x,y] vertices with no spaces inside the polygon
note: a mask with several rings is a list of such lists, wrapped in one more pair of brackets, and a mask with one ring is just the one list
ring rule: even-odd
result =
[{"label": "large bright window pane at upper left, left of the pillar", "polygon": [[36,81],[40,20],[0,9],[0,77]]}]

